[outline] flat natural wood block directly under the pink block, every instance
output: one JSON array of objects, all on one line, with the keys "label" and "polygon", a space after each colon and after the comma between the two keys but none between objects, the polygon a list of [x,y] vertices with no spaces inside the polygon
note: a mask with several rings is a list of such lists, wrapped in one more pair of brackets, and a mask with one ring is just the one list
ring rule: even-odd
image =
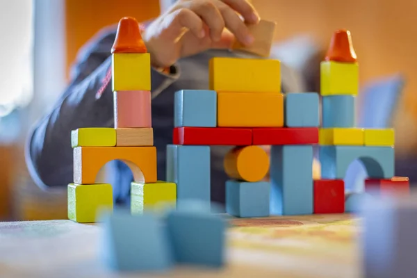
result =
[{"label": "flat natural wood block directly under the pink block", "polygon": [[154,129],[152,127],[115,130],[117,147],[154,145]]}]

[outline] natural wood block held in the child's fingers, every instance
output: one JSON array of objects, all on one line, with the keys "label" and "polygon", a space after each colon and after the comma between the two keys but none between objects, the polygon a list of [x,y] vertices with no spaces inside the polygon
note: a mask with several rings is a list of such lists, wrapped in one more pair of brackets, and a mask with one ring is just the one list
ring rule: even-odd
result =
[{"label": "natural wood block held in the child's fingers", "polygon": [[254,37],[254,42],[250,47],[245,47],[238,40],[235,40],[231,49],[248,52],[262,57],[269,57],[276,25],[276,22],[268,22],[268,20],[264,19],[261,19],[257,24],[246,24]]}]

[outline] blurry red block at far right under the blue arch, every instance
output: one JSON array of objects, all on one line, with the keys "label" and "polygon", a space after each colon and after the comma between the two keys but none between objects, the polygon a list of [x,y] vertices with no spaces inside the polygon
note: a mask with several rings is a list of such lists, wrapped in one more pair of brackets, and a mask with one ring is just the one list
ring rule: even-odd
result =
[{"label": "blurry red block at far right under the blue arch", "polygon": [[365,191],[377,196],[398,196],[410,195],[409,178],[393,177],[391,179],[366,179]]}]

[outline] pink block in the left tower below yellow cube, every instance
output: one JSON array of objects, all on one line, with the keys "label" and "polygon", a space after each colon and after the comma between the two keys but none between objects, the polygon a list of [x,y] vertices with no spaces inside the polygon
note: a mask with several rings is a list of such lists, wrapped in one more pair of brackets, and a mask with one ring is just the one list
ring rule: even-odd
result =
[{"label": "pink block in the left tower below yellow cube", "polygon": [[152,127],[151,92],[119,91],[113,94],[116,129]]}]

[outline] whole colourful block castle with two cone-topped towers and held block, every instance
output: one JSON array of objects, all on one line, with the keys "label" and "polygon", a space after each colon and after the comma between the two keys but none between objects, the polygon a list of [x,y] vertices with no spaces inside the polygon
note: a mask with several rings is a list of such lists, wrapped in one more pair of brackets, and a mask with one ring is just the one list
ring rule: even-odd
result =
[{"label": "whole colourful block castle with two cone-topped towers and held block", "polygon": [[[74,183],[68,216],[95,222],[112,209],[110,184],[95,177],[108,161],[133,172],[131,211],[142,213],[178,201],[211,199],[210,146],[226,145],[227,213],[238,217],[343,213],[347,167],[360,159],[373,192],[407,192],[408,180],[393,177],[392,129],[354,127],[359,66],[348,31],[334,33],[321,64],[322,124],[318,93],[281,93],[279,60],[268,59],[271,22],[250,26],[255,46],[234,48],[265,58],[213,58],[208,90],[174,95],[173,144],[167,146],[167,182],[156,180],[150,58],[136,19],[120,21],[112,48],[115,128],[72,132]],[[268,42],[265,42],[268,40]],[[268,155],[263,145],[270,145]],[[313,181],[313,146],[320,145],[321,178]],[[269,172],[269,181],[265,177]],[[375,188],[377,190],[375,190]]]}]

